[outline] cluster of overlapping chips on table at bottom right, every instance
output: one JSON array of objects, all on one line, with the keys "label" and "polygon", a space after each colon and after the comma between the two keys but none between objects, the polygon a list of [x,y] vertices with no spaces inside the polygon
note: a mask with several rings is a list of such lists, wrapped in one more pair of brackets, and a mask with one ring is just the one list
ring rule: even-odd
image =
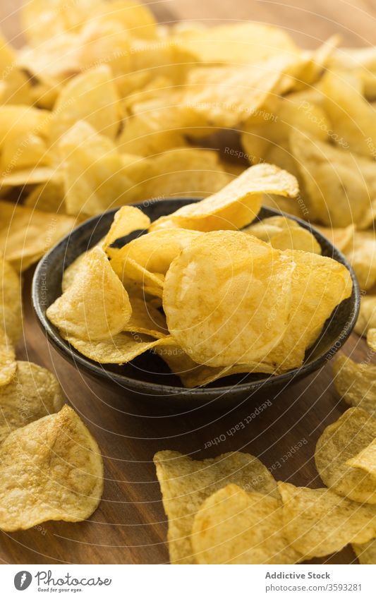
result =
[{"label": "cluster of overlapping chips on table at bottom right", "polygon": [[325,488],[277,483],[255,456],[154,456],[173,564],[296,564],[351,543],[376,555],[376,420],[347,410],[325,428],[315,461]]}]

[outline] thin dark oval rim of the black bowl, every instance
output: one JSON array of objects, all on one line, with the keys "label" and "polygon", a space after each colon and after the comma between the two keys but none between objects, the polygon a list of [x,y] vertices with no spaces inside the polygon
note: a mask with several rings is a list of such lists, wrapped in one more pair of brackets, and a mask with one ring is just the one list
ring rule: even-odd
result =
[{"label": "thin dark oval rim of the black bowl", "polygon": [[[178,202],[178,203],[180,202],[181,205],[185,205],[186,203],[198,202],[198,201],[200,201],[200,199],[202,199],[202,198],[164,198],[163,200],[158,200],[158,203],[165,202],[166,200],[174,200],[174,202]],[[154,202],[154,203],[157,203],[157,202]],[[137,207],[140,210],[142,210],[142,207],[145,207],[145,200],[142,202],[136,202],[136,203],[132,203],[129,205],[133,206],[133,207]],[[310,231],[315,236],[317,241],[319,241],[319,243],[320,243],[320,241],[325,241],[327,246],[329,246],[329,248],[332,249],[332,253],[334,255],[336,255],[337,258],[339,258],[339,260],[337,258],[334,258],[334,259],[337,262],[342,263],[350,272],[351,279],[353,282],[353,306],[352,306],[353,309],[351,310],[351,317],[348,318],[348,320],[346,321],[346,323],[344,325],[344,328],[341,329],[341,334],[339,334],[336,337],[336,339],[334,339],[332,346],[327,348],[327,350],[324,353],[320,354],[320,356],[317,356],[317,358],[315,358],[315,360],[308,362],[308,363],[303,363],[298,368],[293,368],[292,370],[288,370],[288,371],[286,371],[286,373],[283,373],[281,375],[269,375],[269,376],[264,376],[260,380],[248,381],[248,382],[243,382],[243,383],[238,382],[236,384],[223,385],[223,386],[219,386],[219,387],[217,387],[217,386],[216,387],[203,387],[203,386],[201,386],[201,387],[177,387],[175,385],[164,385],[164,384],[157,383],[157,382],[138,380],[136,378],[131,378],[126,375],[122,375],[119,373],[114,373],[109,370],[106,370],[104,368],[105,367],[104,364],[100,364],[100,363],[96,364],[94,361],[91,361],[89,358],[85,358],[85,356],[83,356],[75,348],[73,348],[73,346],[71,346],[68,343],[68,341],[66,341],[65,339],[63,339],[60,336],[59,332],[57,332],[57,329],[54,327],[54,325],[52,325],[49,322],[49,320],[47,319],[47,316],[44,313],[44,310],[42,309],[42,304],[39,301],[39,298],[40,298],[39,289],[40,289],[40,282],[41,282],[42,276],[45,277],[46,272],[48,272],[48,264],[49,264],[51,255],[54,255],[54,253],[56,253],[56,251],[58,251],[61,246],[64,246],[64,245],[70,243],[70,239],[72,238],[72,236],[78,234],[78,231],[80,231],[80,229],[82,229],[83,227],[85,227],[85,228],[90,227],[90,224],[92,224],[92,229],[95,229],[95,225],[99,222],[99,220],[101,218],[103,218],[104,216],[107,216],[109,214],[115,214],[119,210],[119,208],[120,207],[116,207],[114,209],[102,212],[101,214],[97,214],[94,217],[90,217],[90,219],[85,220],[83,223],[80,223],[77,227],[75,227],[72,231],[70,231],[70,233],[68,233],[66,236],[64,236],[58,243],[56,243],[43,256],[43,258],[41,258],[40,262],[38,262],[38,264],[37,264],[34,276],[32,278],[32,291],[31,291],[32,307],[35,312],[35,315],[37,316],[37,322],[47,337],[47,341],[49,341],[54,346],[54,348],[57,351],[59,351],[59,353],[61,354],[61,356],[63,356],[63,358],[65,358],[68,362],[73,364],[75,366],[75,368],[78,368],[78,369],[79,369],[79,367],[83,368],[83,370],[88,375],[91,375],[94,377],[99,377],[102,380],[109,380],[111,382],[116,382],[117,384],[121,385],[122,387],[124,387],[126,385],[126,387],[125,387],[126,389],[131,389],[133,392],[138,392],[140,395],[149,395],[150,397],[152,397],[153,395],[156,394],[156,392],[159,392],[159,394],[164,394],[166,396],[167,395],[178,396],[178,395],[182,395],[182,394],[189,394],[190,396],[202,397],[203,395],[205,395],[205,397],[208,400],[211,400],[211,399],[216,399],[219,394],[222,395],[222,394],[229,394],[231,392],[234,392],[234,389],[236,389],[236,391],[238,391],[238,392],[255,392],[255,391],[257,391],[257,389],[261,389],[262,387],[265,387],[265,386],[274,387],[276,385],[278,385],[278,386],[283,385],[284,383],[287,383],[291,380],[294,380],[296,378],[301,378],[310,373],[313,373],[313,372],[315,372],[315,370],[318,370],[319,368],[321,368],[322,365],[325,365],[325,363],[327,361],[332,359],[334,354],[337,353],[337,351],[339,351],[339,349],[341,349],[341,347],[344,345],[344,343],[350,336],[351,332],[353,331],[353,327],[356,324],[356,320],[358,318],[358,313],[360,310],[360,288],[359,288],[358,280],[356,279],[356,274],[353,271],[353,268],[351,267],[350,263],[348,262],[346,256],[343,253],[341,253],[341,251],[338,248],[333,246],[333,244],[318,229],[315,229],[315,226],[312,226],[309,222],[304,221],[303,219],[300,219],[299,217],[296,217],[293,214],[281,212],[281,211],[275,210],[274,208],[271,208],[269,206],[262,206],[261,210],[266,210],[267,212],[269,212],[270,217],[284,216],[284,217],[288,217],[289,219],[293,219],[298,224],[300,224],[300,226],[302,226],[303,229],[307,229],[308,231]],[[260,220],[264,220],[264,219],[260,219]],[[320,243],[320,245],[321,245],[321,243]],[[47,308],[45,308],[45,309],[47,309]],[[320,336],[317,338],[317,340],[318,339],[320,339]],[[317,340],[315,341],[315,343],[317,342]],[[315,346],[315,344],[313,346]],[[156,397],[156,399],[157,399],[157,397]]]}]

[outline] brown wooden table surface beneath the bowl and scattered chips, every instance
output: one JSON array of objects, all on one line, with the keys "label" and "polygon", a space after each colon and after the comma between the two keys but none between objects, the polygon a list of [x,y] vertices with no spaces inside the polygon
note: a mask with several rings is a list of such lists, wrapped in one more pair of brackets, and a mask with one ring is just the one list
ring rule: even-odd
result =
[{"label": "brown wooden table surface beneath the bowl and scattered chips", "polygon": [[[20,35],[20,0],[1,0],[1,28],[15,44]],[[161,22],[200,19],[210,23],[255,19],[286,28],[303,47],[316,47],[335,32],[346,45],[376,44],[376,3],[373,0],[167,0],[148,3]],[[49,368],[59,378],[66,398],[97,438],[105,464],[102,502],[90,521],[80,524],[47,522],[13,534],[1,533],[0,559],[5,563],[168,562],[166,516],[152,457],[160,449],[175,449],[205,459],[239,450],[258,456],[277,479],[296,485],[322,486],[313,454],[325,426],[346,409],[332,384],[328,363],[317,373],[273,399],[249,425],[226,431],[252,414],[260,401],[250,398],[227,413],[193,409],[160,413],[138,406],[119,393],[104,390],[66,363],[49,346],[30,307],[33,269],[24,275],[25,341],[18,358]],[[367,354],[355,334],[345,353],[356,361]],[[210,449],[205,442],[220,435],[226,440]],[[291,451],[291,448],[298,449]],[[322,562],[351,563],[350,547]],[[317,563],[320,563],[317,560]]]}]

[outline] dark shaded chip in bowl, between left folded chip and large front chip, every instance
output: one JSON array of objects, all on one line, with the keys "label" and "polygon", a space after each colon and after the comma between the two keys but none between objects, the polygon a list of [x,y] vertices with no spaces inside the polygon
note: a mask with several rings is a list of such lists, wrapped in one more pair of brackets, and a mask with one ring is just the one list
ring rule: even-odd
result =
[{"label": "dark shaded chip in bowl, between left folded chip and large front chip", "polygon": [[145,299],[135,297],[131,298],[131,306],[132,315],[126,323],[124,331],[142,333],[156,339],[167,337],[169,330],[167,329],[166,319],[157,308],[154,308]]}]

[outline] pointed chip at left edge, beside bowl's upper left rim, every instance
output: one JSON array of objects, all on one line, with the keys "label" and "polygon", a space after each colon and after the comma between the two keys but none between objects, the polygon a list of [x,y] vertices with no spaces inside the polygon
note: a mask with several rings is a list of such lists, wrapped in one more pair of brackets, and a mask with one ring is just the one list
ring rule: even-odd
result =
[{"label": "pointed chip at left edge, beside bowl's upper left rim", "polygon": [[0,251],[16,270],[26,270],[75,225],[73,217],[0,200]]}]

